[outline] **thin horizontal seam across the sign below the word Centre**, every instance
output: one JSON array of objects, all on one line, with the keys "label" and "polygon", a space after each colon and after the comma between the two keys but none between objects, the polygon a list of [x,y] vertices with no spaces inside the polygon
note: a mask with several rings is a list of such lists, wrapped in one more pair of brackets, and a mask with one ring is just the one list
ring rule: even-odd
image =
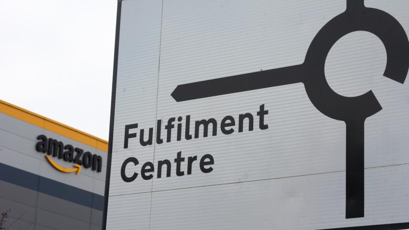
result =
[{"label": "thin horizontal seam across the sign below the word Centre", "polygon": [[[400,165],[409,165],[409,162],[408,163],[402,163],[402,164],[396,164],[396,165],[384,165],[384,166],[367,167],[367,168],[364,168],[364,169],[365,170],[366,169],[377,169],[377,168],[393,167],[393,166],[400,166]],[[311,174],[293,175],[293,176],[283,176],[283,177],[275,177],[275,178],[265,178],[265,179],[258,179],[258,180],[237,181],[237,182],[229,182],[229,183],[221,183],[221,184],[209,184],[209,185],[192,186],[192,187],[184,187],[184,188],[162,189],[162,190],[155,190],[155,191],[152,190],[152,191],[140,192],[140,193],[129,193],[129,194],[113,195],[113,196],[110,196],[110,197],[119,197],[119,196],[135,195],[135,194],[143,194],[143,193],[166,192],[166,191],[191,189],[191,188],[204,188],[204,187],[230,185],[230,184],[242,184],[242,183],[257,182],[257,181],[277,180],[277,179],[284,179],[284,178],[293,178],[293,177],[310,176],[310,175],[321,175],[321,174],[327,174],[327,173],[342,173],[342,172],[346,172],[346,170],[331,171],[331,172],[324,172],[324,173],[311,173]]]}]

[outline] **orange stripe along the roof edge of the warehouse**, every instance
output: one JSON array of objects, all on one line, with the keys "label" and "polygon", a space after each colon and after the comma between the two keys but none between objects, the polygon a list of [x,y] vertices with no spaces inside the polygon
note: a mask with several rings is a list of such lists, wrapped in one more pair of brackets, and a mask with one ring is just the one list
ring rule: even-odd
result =
[{"label": "orange stripe along the roof edge of the warehouse", "polygon": [[87,144],[102,151],[108,151],[108,142],[88,133],[62,124],[42,115],[35,114],[18,106],[0,100],[0,113],[25,121],[31,125],[49,130],[74,141]]}]

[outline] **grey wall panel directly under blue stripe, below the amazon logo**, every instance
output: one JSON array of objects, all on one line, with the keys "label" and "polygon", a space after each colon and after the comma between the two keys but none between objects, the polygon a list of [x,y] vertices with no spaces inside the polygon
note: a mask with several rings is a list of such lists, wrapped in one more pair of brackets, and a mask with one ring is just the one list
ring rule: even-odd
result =
[{"label": "grey wall panel directly under blue stripe, below the amazon logo", "polygon": [[38,208],[86,222],[89,222],[91,219],[90,207],[66,201],[43,193],[38,193],[37,199]]}]

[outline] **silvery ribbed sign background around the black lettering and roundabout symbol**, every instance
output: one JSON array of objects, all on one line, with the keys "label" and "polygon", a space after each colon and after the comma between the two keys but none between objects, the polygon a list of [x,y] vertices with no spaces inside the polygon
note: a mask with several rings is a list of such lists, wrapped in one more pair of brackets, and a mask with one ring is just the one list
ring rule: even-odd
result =
[{"label": "silvery ribbed sign background around the black lettering and roundabout symbol", "polygon": [[[181,102],[171,96],[181,84],[303,63],[316,34],[346,6],[346,0],[123,0],[107,229],[292,230],[409,222],[409,83],[382,76],[386,52],[374,34],[356,31],[339,39],[324,69],[337,93],[372,90],[382,106],[365,120],[361,218],[346,218],[346,124],[318,111],[303,84]],[[409,1],[365,0],[365,6],[387,12],[409,32]],[[264,130],[260,105],[268,110]],[[253,131],[248,119],[237,131],[244,113],[254,116]],[[209,128],[204,138],[202,127],[200,138],[186,140],[186,115],[191,133],[195,121],[214,118],[217,136]],[[227,115],[236,120],[230,135],[220,129]],[[167,143],[171,117],[175,127]],[[157,120],[161,144],[155,142]],[[124,148],[125,125],[135,123],[129,132],[137,136]],[[149,128],[153,144],[143,146],[140,130],[147,140]],[[183,176],[176,175],[179,151]],[[205,154],[214,158],[210,173],[199,168]],[[189,156],[198,158],[191,174]],[[139,164],[127,164],[125,175],[138,175],[125,182],[121,166],[129,157]],[[172,163],[171,176],[165,166],[158,178],[158,161],[165,159]],[[151,179],[142,178],[146,162],[154,166]]]}]

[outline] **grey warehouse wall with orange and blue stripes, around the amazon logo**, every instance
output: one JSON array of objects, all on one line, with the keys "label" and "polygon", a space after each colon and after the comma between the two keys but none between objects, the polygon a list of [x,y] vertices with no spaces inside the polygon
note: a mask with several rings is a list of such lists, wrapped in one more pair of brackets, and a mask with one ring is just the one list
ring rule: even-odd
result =
[{"label": "grey warehouse wall with orange and blue stripes, around the amazon logo", "polygon": [[[100,155],[101,172],[84,166],[79,174],[58,171],[45,158],[47,153],[36,150],[39,135]],[[3,227],[101,229],[106,145],[103,140],[0,100],[0,212],[10,210]],[[73,163],[50,158],[61,167],[73,168]]]}]

